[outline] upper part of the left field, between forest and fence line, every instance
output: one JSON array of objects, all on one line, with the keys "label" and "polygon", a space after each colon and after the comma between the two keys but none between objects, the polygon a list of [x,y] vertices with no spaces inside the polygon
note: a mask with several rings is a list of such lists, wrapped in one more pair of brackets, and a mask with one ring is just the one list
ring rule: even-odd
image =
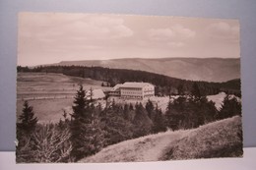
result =
[{"label": "upper part of the left field, between forest and fence line", "polygon": [[19,97],[26,94],[72,93],[82,84],[86,89],[99,88],[101,82],[91,79],[69,77],[54,73],[18,73],[17,93]]}]

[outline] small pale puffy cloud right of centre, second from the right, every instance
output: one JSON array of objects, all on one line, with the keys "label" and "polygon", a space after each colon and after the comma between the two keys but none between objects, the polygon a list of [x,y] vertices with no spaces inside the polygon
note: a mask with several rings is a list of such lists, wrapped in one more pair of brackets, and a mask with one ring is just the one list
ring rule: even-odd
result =
[{"label": "small pale puffy cloud right of centre, second from the right", "polygon": [[181,25],[174,25],[170,28],[151,28],[148,35],[154,40],[184,40],[194,37],[196,32]]}]

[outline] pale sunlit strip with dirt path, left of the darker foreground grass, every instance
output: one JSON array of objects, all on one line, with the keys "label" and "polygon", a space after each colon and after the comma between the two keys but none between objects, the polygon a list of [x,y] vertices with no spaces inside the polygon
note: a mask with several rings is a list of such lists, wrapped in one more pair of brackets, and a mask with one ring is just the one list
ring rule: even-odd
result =
[{"label": "pale sunlit strip with dirt path, left of the darker foreground grass", "polygon": [[183,132],[168,132],[147,136],[105,147],[96,155],[79,162],[130,162],[158,161],[170,142],[183,137]]}]

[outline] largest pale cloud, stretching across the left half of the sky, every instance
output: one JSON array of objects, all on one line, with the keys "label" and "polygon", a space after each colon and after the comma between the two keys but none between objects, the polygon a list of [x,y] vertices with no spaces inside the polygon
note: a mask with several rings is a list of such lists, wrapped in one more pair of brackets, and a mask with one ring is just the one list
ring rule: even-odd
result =
[{"label": "largest pale cloud, stretching across the left half of the sky", "polygon": [[23,17],[21,36],[40,39],[83,40],[129,37],[133,30],[118,17],[101,15],[36,14]]}]

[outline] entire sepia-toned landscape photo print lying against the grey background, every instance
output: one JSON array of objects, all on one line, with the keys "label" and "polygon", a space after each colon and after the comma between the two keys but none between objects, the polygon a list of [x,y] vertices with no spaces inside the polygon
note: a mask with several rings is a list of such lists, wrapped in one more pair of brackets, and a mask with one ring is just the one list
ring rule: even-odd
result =
[{"label": "entire sepia-toned landscape photo print lying against the grey background", "polygon": [[242,157],[233,19],[19,14],[17,163]]}]

